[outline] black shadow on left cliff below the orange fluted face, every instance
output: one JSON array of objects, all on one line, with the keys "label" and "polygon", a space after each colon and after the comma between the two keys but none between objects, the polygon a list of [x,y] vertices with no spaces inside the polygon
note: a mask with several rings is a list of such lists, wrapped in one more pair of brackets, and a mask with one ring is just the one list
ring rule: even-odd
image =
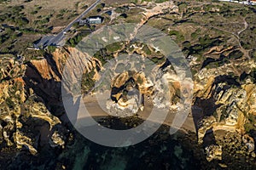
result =
[{"label": "black shadow on left cliff below the orange fluted face", "polygon": [[[61,79],[61,73],[57,70],[52,55],[47,54],[45,59],[54,74]],[[45,79],[31,62],[28,62],[26,66],[25,77],[23,77],[24,82],[26,82],[26,92],[29,93],[29,89],[32,88],[34,94],[44,99],[44,104],[50,113],[61,116],[64,113],[61,102],[61,82],[56,81],[53,77]]]}]

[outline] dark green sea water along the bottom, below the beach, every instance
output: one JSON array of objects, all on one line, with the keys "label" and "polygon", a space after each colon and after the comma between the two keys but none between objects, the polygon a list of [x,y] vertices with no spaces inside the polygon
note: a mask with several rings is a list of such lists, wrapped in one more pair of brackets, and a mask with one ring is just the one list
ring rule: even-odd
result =
[{"label": "dark green sea water along the bottom, below the beach", "polygon": [[[119,121],[112,120],[112,128]],[[125,126],[124,126],[125,127]],[[197,144],[195,133],[178,131],[170,135],[170,127],[160,129],[142,143],[123,148],[95,144],[74,129],[73,140],[67,141],[64,149],[49,145],[38,149],[32,156],[26,149],[13,152],[5,161],[6,169],[85,169],[85,170],[134,170],[134,169],[222,169],[219,162],[208,162],[201,145]],[[227,161],[227,160],[224,160]],[[230,161],[230,168],[247,167],[241,162]],[[1,161],[3,163],[3,161]],[[236,165],[238,165],[236,167]],[[245,169],[251,169],[249,166]]]}]

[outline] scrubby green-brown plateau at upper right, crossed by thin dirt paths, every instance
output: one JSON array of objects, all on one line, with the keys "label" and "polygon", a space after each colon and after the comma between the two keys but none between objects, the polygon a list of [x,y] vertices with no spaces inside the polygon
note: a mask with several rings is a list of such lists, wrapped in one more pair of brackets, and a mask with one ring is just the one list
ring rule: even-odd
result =
[{"label": "scrubby green-brown plateau at upper right, crossed by thin dirt paths", "polygon": [[[192,71],[201,70],[201,66],[216,68],[230,63],[230,60],[241,59],[241,52],[237,39],[239,31],[243,30],[244,20],[248,28],[239,35],[241,46],[252,50],[253,57],[256,34],[255,8],[234,3],[205,3],[196,1],[175,2],[179,8],[179,14],[161,14],[150,18],[148,26],[153,26],[168,33],[177,45],[183,50],[185,56],[193,55],[199,65],[193,65]],[[242,8],[241,8],[242,6]],[[254,11],[254,12],[253,12]],[[206,54],[213,47],[235,47],[232,53],[229,51],[216,54]],[[214,50],[213,50],[214,51]],[[232,50],[231,50],[232,51]],[[226,57],[223,57],[226,56]],[[209,62],[207,58],[212,58]]]}]

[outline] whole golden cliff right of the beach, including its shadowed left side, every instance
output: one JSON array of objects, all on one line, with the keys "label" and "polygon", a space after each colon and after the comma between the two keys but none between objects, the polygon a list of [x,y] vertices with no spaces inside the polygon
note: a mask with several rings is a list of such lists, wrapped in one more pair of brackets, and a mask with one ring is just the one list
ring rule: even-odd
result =
[{"label": "whole golden cliff right of the beach, including its shadowed left side", "polygon": [[[221,151],[221,147],[225,145],[225,138],[232,139],[235,136],[244,138],[247,133],[252,135],[255,129],[255,124],[253,124],[256,95],[255,77],[253,77],[255,61],[249,59],[235,65],[238,64],[243,65],[243,70],[235,72],[240,77],[230,76],[230,72],[234,72],[234,69],[231,69],[234,65],[230,64],[219,68],[202,69],[195,75],[192,112],[196,117],[198,142],[208,145],[205,150],[209,154],[207,158],[209,161],[214,159],[212,157],[221,159],[219,154],[213,156],[215,153],[213,149]],[[239,72],[243,72],[242,76]],[[213,134],[213,139],[209,137],[211,134]],[[223,134],[225,135],[223,136]],[[210,144],[209,140],[218,141],[215,144]],[[244,145],[246,150],[255,156],[252,152],[254,140],[244,140],[244,143],[237,141],[234,147]]]}]

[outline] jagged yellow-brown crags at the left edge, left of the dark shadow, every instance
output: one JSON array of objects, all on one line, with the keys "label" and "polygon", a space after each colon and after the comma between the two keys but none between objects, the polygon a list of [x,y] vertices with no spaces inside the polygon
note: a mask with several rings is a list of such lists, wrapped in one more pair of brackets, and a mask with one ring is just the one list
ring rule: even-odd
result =
[{"label": "jagged yellow-brown crags at the left edge, left of the dark shadow", "polygon": [[[50,128],[61,121],[51,115],[44,100],[26,88],[24,76],[26,65],[19,60],[1,60],[0,82],[0,144],[21,149],[25,146],[33,155],[37,154],[40,135],[34,127],[49,122]],[[29,127],[29,128],[28,128]]]}]

